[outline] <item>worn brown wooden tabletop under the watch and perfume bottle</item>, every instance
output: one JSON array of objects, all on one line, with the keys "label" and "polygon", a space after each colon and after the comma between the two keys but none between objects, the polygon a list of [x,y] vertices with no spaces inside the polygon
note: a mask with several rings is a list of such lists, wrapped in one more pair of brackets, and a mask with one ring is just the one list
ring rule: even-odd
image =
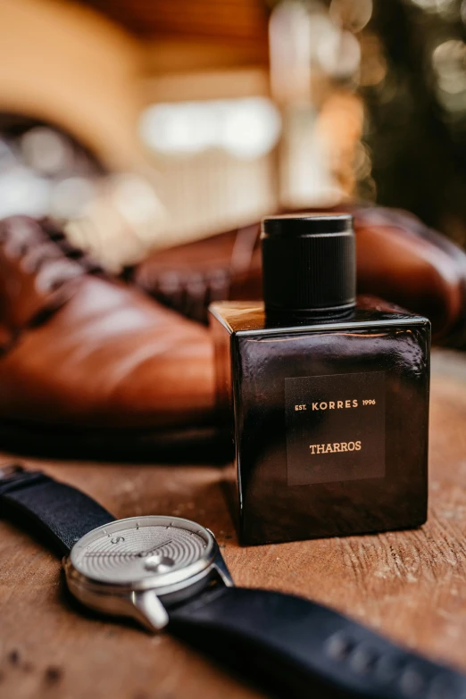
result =
[{"label": "worn brown wooden tabletop under the watch and perfume bottle", "polygon": [[[26,460],[119,517],[171,513],[212,528],[238,585],[311,597],[466,671],[466,358],[434,357],[426,526],[239,548],[221,469]],[[60,562],[0,522],[0,697],[261,696],[168,635],[83,615]]]}]

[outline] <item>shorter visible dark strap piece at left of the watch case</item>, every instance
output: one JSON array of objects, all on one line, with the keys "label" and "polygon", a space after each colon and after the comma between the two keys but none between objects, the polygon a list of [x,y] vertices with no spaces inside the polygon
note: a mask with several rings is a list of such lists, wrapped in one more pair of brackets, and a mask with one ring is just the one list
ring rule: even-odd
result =
[{"label": "shorter visible dark strap piece at left of the watch case", "polygon": [[87,532],[115,519],[77,488],[21,466],[0,468],[0,518],[45,534],[62,555]]}]

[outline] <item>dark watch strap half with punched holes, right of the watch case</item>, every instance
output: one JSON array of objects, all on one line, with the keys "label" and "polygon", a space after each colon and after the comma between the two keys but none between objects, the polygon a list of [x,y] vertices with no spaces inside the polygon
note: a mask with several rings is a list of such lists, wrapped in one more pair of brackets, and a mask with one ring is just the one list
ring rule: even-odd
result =
[{"label": "dark watch strap half with punched holes, right of the watch case", "polygon": [[288,699],[466,697],[460,673],[302,597],[212,588],[172,610],[170,628],[262,684],[268,678],[272,693],[286,692]]}]

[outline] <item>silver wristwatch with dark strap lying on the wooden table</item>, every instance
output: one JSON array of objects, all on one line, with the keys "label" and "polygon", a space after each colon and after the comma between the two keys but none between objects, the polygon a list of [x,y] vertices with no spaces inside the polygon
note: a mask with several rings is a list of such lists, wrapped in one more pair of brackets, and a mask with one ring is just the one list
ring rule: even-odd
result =
[{"label": "silver wristwatch with dark strap lying on the wooden table", "polygon": [[234,587],[212,532],[170,516],[115,520],[74,487],[21,466],[0,469],[0,516],[64,555],[88,607],[168,628],[274,695],[466,698],[466,678],[320,604]]}]

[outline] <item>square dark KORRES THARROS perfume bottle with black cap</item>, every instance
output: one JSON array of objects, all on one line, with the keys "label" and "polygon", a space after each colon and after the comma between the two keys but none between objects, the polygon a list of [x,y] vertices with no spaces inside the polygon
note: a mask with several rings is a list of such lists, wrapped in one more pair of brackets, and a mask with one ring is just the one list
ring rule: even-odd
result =
[{"label": "square dark KORRES THARROS perfume bottle with black cap", "polygon": [[348,214],[262,221],[264,303],[212,304],[240,542],[427,518],[429,320],[355,296]]}]

